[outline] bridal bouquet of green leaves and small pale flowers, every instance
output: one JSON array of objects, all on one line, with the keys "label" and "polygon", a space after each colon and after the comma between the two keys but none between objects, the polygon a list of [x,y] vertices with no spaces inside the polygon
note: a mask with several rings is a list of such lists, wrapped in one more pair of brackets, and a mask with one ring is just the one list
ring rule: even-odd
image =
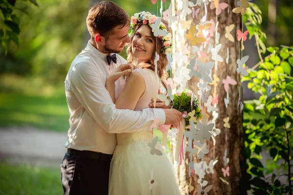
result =
[{"label": "bridal bouquet of green leaves and small pale flowers", "polygon": [[190,125],[191,119],[196,124],[196,121],[203,117],[199,99],[189,89],[174,94],[173,102],[173,108],[183,113],[186,126]]}]

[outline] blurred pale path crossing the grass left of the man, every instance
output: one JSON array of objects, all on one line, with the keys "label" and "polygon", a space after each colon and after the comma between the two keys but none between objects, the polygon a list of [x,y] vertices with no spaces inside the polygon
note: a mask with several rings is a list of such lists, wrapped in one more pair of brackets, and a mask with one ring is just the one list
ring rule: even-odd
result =
[{"label": "blurred pale path crossing the grass left of the man", "polygon": [[0,128],[0,161],[59,167],[67,133],[34,128]]}]

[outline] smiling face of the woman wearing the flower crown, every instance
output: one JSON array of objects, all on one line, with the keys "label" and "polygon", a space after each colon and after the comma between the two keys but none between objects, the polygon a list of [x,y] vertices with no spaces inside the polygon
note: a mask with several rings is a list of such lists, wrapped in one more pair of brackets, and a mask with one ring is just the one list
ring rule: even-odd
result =
[{"label": "smiling face of the woman wearing the flower crown", "polygon": [[155,40],[152,38],[150,28],[144,24],[137,31],[132,39],[132,53],[137,62],[149,61],[155,51]]}]

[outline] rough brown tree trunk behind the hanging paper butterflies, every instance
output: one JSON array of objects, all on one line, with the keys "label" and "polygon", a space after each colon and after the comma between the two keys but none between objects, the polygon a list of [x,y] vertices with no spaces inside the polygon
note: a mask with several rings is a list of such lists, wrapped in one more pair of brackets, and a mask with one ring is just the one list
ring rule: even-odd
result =
[{"label": "rough brown tree trunk behind the hanging paper butterflies", "polygon": [[[176,0],[176,2],[178,2]],[[242,29],[242,24],[241,24],[241,19],[242,16],[240,14],[235,14],[232,12],[232,9],[237,6],[237,0],[221,0],[221,3],[229,3],[230,2],[230,13],[228,14],[228,8],[226,8],[219,16],[218,16],[218,33],[220,33],[220,39],[219,43],[222,44],[222,47],[218,54],[224,59],[224,62],[218,62],[217,66],[217,72],[216,75],[220,79],[218,82],[218,86],[216,89],[214,89],[213,85],[211,86],[211,90],[209,92],[209,95],[214,97],[216,94],[218,94],[218,105],[217,108],[219,109],[218,111],[218,118],[216,120],[216,128],[219,128],[221,130],[221,133],[215,137],[216,143],[215,147],[213,146],[213,141],[210,139],[208,143],[208,149],[209,149],[209,154],[205,155],[203,160],[209,161],[211,159],[218,159],[218,162],[214,166],[214,174],[207,174],[204,178],[204,180],[207,180],[209,185],[213,185],[212,189],[209,191],[209,195],[246,195],[246,189],[241,189],[243,188],[242,184],[240,184],[240,179],[241,177],[246,173],[246,168],[245,168],[245,156],[243,156],[243,151],[245,151],[244,147],[244,132],[242,129],[242,114],[240,113],[240,108],[237,109],[238,106],[238,98],[239,98],[239,91],[241,88],[241,82],[240,82],[240,75],[237,74],[236,68],[237,68],[237,63],[236,60],[241,58],[241,53],[240,53],[240,48],[241,45],[239,41],[237,40],[237,30]],[[175,7],[175,6],[174,6]],[[208,18],[207,20],[213,19],[215,20],[215,9],[210,10],[209,5],[208,7]],[[196,6],[196,9],[198,6]],[[201,8],[202,10],[202,8]],[[189,15],[187,17],[187,20],[193,20],[195,24],[199,23],[199,20],[202,18],[202,11],[198,14],[198,20],[193,20],[191,16]],[[235,39],[235,42],[231,42],[228,39],[225,38],[225,27],[230,25],[230,24],[235,24],[235,28],[233,31],[231,31],[232,36]],[[196,31],[197,33],[197,31]],[[214,37],[210,38],[209,40],[212,44],[213,47],[215,46],[215,35]],[[188,42],[189,45],[190,42]],[[197,45],[198,47],[200,45]],[[229,64],[226,63],[225,59],[227,58],[227,48],[229,47],[229,53],[230,53],[230,59],[229,59]],[[207,47],[204,49],[207,51]],[[190,48],[191,50],[191,48]],[[211,61],[211,53],[207,54],[208,55],[208,60]],[[194,55],[192,56],[194,57]],[[191,56],[188,57],[188,61],[192,58]],[[227,74],[228,73],[228,74]],[[212,75],[214,74],[214,68],[212,71]],[[224,85],[222,80],[225,79],[229,75],[231,78],[235,79],[237,81],[237,85],[230,85],[229,89],[229,96],[230,96],[230,103],[228,105],[228,108],[225,107],[224,103],[224,98],[226,98],[226,92],[224,90]],[[197,88],[197,82],[198,79],[193,79],[193,90],[196,94],[198,91]],[[191,81],[188,82],[188,88],[192,90],[192,84]],[[202,103],[203,106],[203,103]],[[204,108],[204,110],[206,110]],[[211,119],[211,115],[209,114],[209,120]],[[226,117],[230,117],[230,129],[225,129],[224,128],[224,122],[223,119]],[[225,139],[225,132],[227,132],[227,143]],[[207,140],[206,140],[207,141]],[[224,152],[227,147],[227,157],[230,158],[230,162],[228,163],[227,166],[230,167],[230,176],[224,177],[222,168],[224,167]],[[174,151],[173,151],[174,153]],[[245,152],[244,152],[245,154]],[[196,156],[194,156],[194,162],[196,162]],[[197,160],[198,162],[201,161]],[[186,152],[185,154],[185,161],[181,166],[175,165],[175,171],[178,176],[178,181],[179,181],[179,186],[181,190],[181,194],[190,194],[190,195],[196,195],[197,194],[197,176],[194,176],[192,178],[192,185],[194,186],[194,190],[189,193],[189,176],[188,176],[188,164],[189,164],[189,153]],[[229,182],[229,185],[225,184],[220,180],[219,177],[224,178]]]}]

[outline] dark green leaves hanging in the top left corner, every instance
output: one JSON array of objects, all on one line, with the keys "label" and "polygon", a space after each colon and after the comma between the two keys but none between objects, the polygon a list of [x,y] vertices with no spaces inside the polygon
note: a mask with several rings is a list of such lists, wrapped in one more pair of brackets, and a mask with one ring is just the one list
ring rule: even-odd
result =
[{"label": "dark green leaves hanging in the top left corner", "polygon": [[[29,1],[38,5],[35,0]],[[11,41],[19,45],[20,14],[15,13],[17,10],[15,4],[16,0],[0,1],[0,46],[4,48],[5,54],[8,52]]]}]

